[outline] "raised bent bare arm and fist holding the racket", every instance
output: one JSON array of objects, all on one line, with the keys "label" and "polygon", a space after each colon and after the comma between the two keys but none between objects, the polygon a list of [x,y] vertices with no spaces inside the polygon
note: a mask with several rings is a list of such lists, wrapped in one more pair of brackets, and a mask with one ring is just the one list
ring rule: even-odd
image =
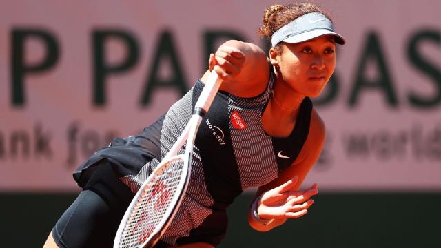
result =
[{"label": "raised bent bare arm and fist holding the racket", "polygon": [[269,62],[262,49],[252,43],[227,41],[209,57],[209,70],[202,81],[207,81],[214,70],[223,80],[220,90],[240,97],[262,93],[269,79]]}]

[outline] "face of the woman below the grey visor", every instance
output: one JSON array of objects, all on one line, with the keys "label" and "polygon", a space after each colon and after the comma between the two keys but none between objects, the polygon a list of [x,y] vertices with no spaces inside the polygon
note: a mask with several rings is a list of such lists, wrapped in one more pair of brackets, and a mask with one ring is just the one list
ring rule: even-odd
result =
[{"label": "face of the woman below the grey visor", "polygon": [[281,52],[271,50],[271,63],[278,65],[279,76],[305,96],[318,96],[336,68],[336,44],[330,35],[302,43],[283,43]]}]

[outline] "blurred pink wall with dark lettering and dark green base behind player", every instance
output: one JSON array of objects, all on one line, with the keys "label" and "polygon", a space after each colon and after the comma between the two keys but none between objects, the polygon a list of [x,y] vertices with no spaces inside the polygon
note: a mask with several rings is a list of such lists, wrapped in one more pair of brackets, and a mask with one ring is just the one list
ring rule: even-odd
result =
[{"label": "blurred pink wall with dark lettering and dark green base behind player", "polygon": [[[441,1],[314,1],[347,39],[314,99],[327,143],[309,214],[258,233],[252,191],[219,247],[441,247]],[[227,39],[260,45],[287,1],[0,2],[1,247],[41,247],[79,192],[72,172],[140,132]]]}]

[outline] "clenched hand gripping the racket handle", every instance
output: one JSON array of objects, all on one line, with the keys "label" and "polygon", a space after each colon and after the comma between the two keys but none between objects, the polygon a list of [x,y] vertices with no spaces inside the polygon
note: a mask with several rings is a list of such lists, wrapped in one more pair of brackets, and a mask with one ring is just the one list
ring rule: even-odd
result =
[{"label": "clenched hand gripping the racket handle", "polygon": [[208,68],[214,70],[220,79],[233,80],[242,70],[245,54],[228,45],[221,45],[215,54],[209,55]]}]

